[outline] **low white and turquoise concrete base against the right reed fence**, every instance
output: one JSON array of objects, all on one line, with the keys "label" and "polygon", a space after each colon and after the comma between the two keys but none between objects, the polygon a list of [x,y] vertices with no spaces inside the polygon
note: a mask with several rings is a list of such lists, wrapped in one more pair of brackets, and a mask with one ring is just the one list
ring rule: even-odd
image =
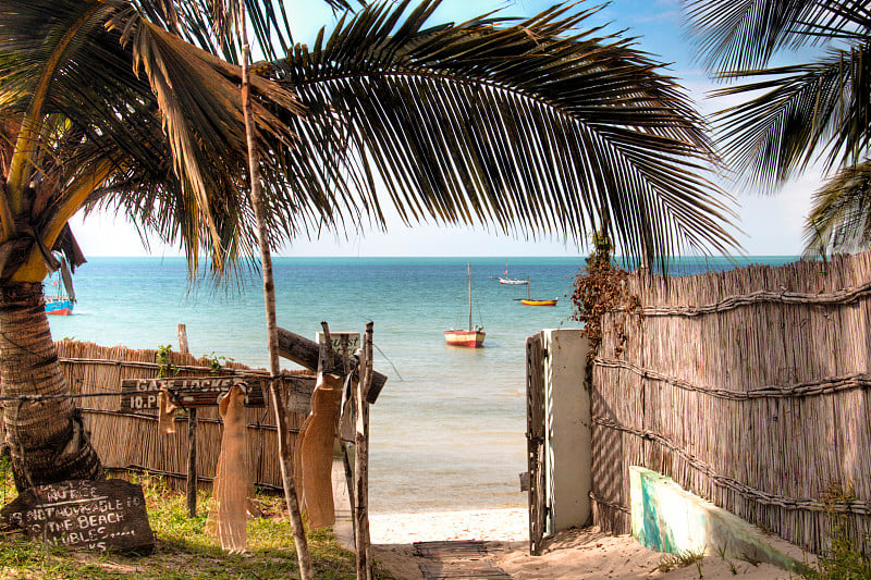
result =
[{"label": "low white and turquoise concrete base against the right reed fence", "polygon": [[633,466],[629,480],[633,535],[642,545],[671,554],[707,551],[798,573],[806,569],[799,548],[692,495],[672,478]]}]

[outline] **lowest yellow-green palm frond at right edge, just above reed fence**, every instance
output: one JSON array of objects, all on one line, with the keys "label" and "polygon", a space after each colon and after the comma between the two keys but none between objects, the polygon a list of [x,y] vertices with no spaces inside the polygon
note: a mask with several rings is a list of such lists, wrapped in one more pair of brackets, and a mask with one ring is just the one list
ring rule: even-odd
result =
[{"label": "lowest yellow-green palm frond at right edge, just above reed fence", "polygon": [[871,247],[871,160],[839,171],[818,190],[805,224],[805,255]]}]

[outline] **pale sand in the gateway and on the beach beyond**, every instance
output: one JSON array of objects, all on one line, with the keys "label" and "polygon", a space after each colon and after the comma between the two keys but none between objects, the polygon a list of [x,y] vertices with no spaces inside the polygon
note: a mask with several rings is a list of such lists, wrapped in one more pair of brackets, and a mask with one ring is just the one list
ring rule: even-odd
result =
[{"label": "pale sand in the gateway and on the beach beyond", "polygon": [[[372,514],[372,555],[401,580],[418,580],[420,557],[414,542],[483,540],[487,559],[516,579],[645,579],[688,580],[700,578],[697,565],[658,570],[665,556],[641,546],[628,535],[612,536],[596,528],[566,530],[548,541],[541,556],[529,556],[527,515],[523,508],[442,511],[424,514]],[[766,564],[722,559],[709,555],[701,560],[701,577],[721,580],[789,578],[789,572]]]}]

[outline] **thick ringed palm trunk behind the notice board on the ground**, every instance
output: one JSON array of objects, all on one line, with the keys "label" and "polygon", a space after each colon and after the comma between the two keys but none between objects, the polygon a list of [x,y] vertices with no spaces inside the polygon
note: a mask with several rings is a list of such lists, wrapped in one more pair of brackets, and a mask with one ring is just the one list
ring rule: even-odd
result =
[{"label": "thick ringed palm trunk behind the notice board on the ground", "polygon": [[23,491],[68,479],[101,479],[102,465],[90,445],[81,411],[61,373],[40,283],[0,284],[0,378],[7,397],[5,443],[15,486]]}]

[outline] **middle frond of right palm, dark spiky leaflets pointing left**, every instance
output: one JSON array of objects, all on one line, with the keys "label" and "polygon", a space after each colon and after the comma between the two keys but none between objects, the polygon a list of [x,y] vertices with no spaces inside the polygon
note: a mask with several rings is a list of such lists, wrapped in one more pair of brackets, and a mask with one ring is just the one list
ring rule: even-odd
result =
[{"label": "middle frond of right palm, dark spiky leaflets pointing left", "polygon": [[864,158],[871,138],[868,48],[831,50],[819,62],[740,73],[766,78],[715,91],[721,97],[763,91],[716,115],[715,129],[732,166],[749,181],[778,185],[821,157],[829,169]]}]

